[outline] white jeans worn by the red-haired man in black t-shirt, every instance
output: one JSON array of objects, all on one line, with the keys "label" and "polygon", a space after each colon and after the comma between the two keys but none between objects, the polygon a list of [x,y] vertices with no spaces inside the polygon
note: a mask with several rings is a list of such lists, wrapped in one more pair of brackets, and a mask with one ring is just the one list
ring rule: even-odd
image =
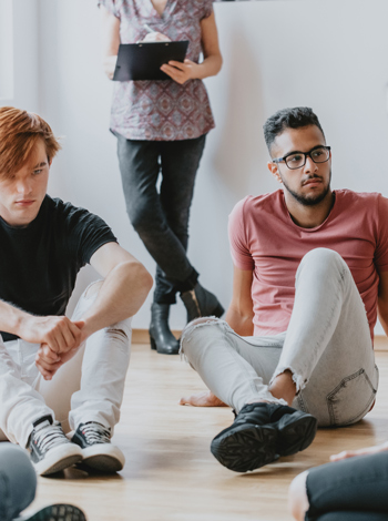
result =
[{"label": "white jeans worn by the red-haired man in black t-shirt", "polygon": [[[81,296],[72,320],[93,304],[93,283]],[[120,419],[130,364],[131,318],[100,329],[81,344],[52,380],[44,380],[34,359],[39,344],[0,337],[0,441],[25,447],[32,423],[51,415],[64,432],[98,421],[113,428]]]}]

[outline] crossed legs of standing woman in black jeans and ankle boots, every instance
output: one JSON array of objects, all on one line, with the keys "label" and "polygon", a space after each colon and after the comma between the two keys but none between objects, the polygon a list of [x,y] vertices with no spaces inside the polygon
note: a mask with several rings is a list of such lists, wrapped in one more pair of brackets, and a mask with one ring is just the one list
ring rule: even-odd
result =
[{"label": "crossed legs of standing woman in black jeans and ankle boots", "polygon": [[[194,290],[200,307],[202,306],[203,315],[222,314],[223,309],[216,297],[210,292],[202,288],[198,284],[198,274],[191,265],[186,256],[186,246],[181,241],[180,234],[176,234],[176,225],[171,224],[172,205],[169,213],[165,213],[165,204],[162,202],[162,194],[169,192],[171,186],[172,163],[174,161],[167,159],[163,147],[170,143],[154,141],[133,141],[126,140],[118,134],[118,155],[122,176],[123,191],[126,202],[126,210],[130,221],[139,233],[144,246],[156,262],[159,269],[156,272],[156,289],[154,295],[154,304],[152,306],[152,323],[162,324],[163,327],[151,327],[150,336],[152,347],[156,347],[160,353],[174,354],[178,350],[178,344],[172,336],[167,320],[170,306],[175,303],[175,294],[186,297],[185,306],[193,308]],[[195,168],[188,172],[188,182],[184,197],[184,205],[190,206],[192,198],[192,187],[195,173],[204,145],[204,136],[196,140],[185,140],[183,146],[190,152],[192,164]],[[178,146],[178,144],[176,144]],[[166,174],[170,181],[161,187],[161,195],[156,190],[156,182],[161,170],[160,159],[162,162],[163,177]],[[165,170],[165,174],[164,174]],[[185,172],[180,171],[181,177],[187,181]],[[181,194],[182,195],[182,194]],[[164,197],[165,200],[165,197]],[[176,204],[178,198],[175,197]],[[184,206],[183,205],[183,206]],[[180,208],[181,212],[182,207]],[[183,212],[184,214],[184,212]],[[182,215],[183,215],[182,214]],[[181,215],[181,216],[182,216]],[[183,215],[183,219],[185,216]],[[188,214],[187,214],[188,218]],[[167,284],[169,283],[169,284]],[[195,304],[195,303],[194,303]],[[196,315],[197,306],[195,306]],[[193,310],[191,313],[194,313]],[[161,329],[161,330],[160,330]],[[157,338],[155,338],[157,336]],[[154,341],[153,341],[154,340]]]}]

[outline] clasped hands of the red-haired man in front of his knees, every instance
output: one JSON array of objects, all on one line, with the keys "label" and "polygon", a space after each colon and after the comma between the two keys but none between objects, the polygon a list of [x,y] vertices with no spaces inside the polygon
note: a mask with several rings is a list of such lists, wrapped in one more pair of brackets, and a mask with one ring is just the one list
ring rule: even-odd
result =
[{"label": "clasped hands of the red-haired man in front of his knees", "polygon": [[65,316],[30,317],[24,320],[21,338],[40,344],[35,365],[45,380],[70,360],[86,338],[84,321],[72,321]]}]

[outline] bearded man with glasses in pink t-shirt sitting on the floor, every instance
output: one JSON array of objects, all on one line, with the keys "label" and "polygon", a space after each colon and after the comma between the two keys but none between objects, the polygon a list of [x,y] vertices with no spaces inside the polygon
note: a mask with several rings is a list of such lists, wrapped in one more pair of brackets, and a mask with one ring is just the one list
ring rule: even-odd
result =
[{"label": "bearded man with glasses in pink t-shirt sitting on the floor", "polygon": [[372,407],[377,310],[388,331],[388,200],[330,188],[331,152],[314,112],[264,125],[283,185],[229,216],[233,298],[226,321],[200,318],[182,350],[208,392],[181,403],[234,408],[211,450],[245,472],[306,449],[317,426],[347,426]]}]

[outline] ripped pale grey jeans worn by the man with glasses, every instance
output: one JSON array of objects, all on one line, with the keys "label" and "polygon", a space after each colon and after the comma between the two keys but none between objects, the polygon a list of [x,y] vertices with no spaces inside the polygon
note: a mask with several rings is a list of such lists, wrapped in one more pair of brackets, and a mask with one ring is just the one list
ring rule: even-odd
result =
[{"label": "ripped pale grey jeans worn by the man with glasses", "polygon": [[360,420],[378,386],[363,299],[345,260],[326,248],[300,262],[287,331],[241,337],[224,320],[200,318],[184,329],[181,350],[236,412],[251,401],[285,403],[268,386],[286,369],[297,389],[293,407],[314,415],[320,427]]}]

